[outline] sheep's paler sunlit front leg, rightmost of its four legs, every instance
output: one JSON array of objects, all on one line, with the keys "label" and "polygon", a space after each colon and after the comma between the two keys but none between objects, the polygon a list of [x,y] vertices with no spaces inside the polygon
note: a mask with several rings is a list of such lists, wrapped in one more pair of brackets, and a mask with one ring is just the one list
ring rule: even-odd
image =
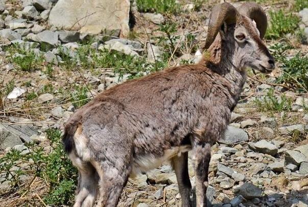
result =
[{"label": "sheep's paler sunlit front leg, rightmost of its four legs", "polygon": [[210,161],[210,144],[198,143],[193,147],[193,163],[196,177],[197,207],[206,206],[206,189],[208,186],[208,167]]}]

